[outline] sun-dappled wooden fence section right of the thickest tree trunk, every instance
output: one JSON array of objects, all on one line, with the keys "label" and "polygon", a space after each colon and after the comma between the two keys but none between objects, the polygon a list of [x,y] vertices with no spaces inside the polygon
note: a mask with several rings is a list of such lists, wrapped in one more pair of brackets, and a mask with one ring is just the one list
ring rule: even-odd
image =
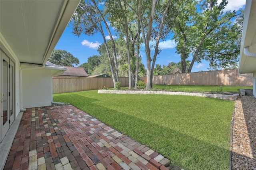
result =
[{"label": "sun-dappled wooden fence section right of the thickest tree trunk", "polygon": [[[253,76],[253,74],[244,74]],[[140,78],[146,83],[146,77]],[[238,69],[153,76],[153,84],[252,86],[253,79],[238,75]]]}]

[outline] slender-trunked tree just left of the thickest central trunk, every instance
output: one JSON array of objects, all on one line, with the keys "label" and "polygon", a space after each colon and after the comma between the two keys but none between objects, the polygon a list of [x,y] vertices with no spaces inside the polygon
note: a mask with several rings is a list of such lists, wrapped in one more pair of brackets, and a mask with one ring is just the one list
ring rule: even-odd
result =
[{"label": "slender-trunked tree just left of the thickest central trunk", "polygon": [[[128,61],[128,72],[129,72],[129,89],[138,81],[138,57],[135,57],[135,46],[139,46],[137,39],[140,35],[140,23],[136,22],[136,15],[130,6],[134,8],[134,2],[130,0],[107,0],[106,1],[106,12],[108,20],[113,24],[116,32],[120,37],[125,37],[127,48],[127,61]],[[140,41],[139,41],[140,42]]]}]

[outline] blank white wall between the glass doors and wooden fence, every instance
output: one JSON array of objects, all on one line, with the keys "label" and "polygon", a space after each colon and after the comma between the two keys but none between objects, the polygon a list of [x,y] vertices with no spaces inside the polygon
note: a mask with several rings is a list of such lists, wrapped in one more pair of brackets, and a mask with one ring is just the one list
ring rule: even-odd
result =
[{"label": "blank white wall between the glass doors and wooden fence", "polygon": [[52,76],[50,69],[22,71],[23,108],[49,106],[52,104]]}]

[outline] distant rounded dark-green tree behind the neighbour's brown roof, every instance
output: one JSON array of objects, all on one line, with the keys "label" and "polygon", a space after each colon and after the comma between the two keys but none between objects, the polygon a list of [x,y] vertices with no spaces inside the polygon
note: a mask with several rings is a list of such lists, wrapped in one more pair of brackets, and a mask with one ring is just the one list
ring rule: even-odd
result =
[{"label": "distant rounded dark-green tree behind the neighbour's brown roof", "polygon": [[79,64],[78,58],[74,57],[71,53],[61,49],[54,49],[48,61],[56,65],[64,65],[69,67],[74,67],[73,64]]}]

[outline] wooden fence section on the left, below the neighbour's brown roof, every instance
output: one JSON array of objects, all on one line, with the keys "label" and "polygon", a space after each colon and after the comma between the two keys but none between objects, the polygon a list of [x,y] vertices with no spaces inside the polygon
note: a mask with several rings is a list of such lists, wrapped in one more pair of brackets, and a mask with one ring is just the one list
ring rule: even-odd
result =
[{"label": "wooden fence section on the left, below the neighbour's brown roof", "polygon": [[[128,78],[119,78],[123,87],[129,86]],[[52,78],[53,93],[69,93],[75,91],[96,90],[103,87],[113,88],[112,78]]]}]

